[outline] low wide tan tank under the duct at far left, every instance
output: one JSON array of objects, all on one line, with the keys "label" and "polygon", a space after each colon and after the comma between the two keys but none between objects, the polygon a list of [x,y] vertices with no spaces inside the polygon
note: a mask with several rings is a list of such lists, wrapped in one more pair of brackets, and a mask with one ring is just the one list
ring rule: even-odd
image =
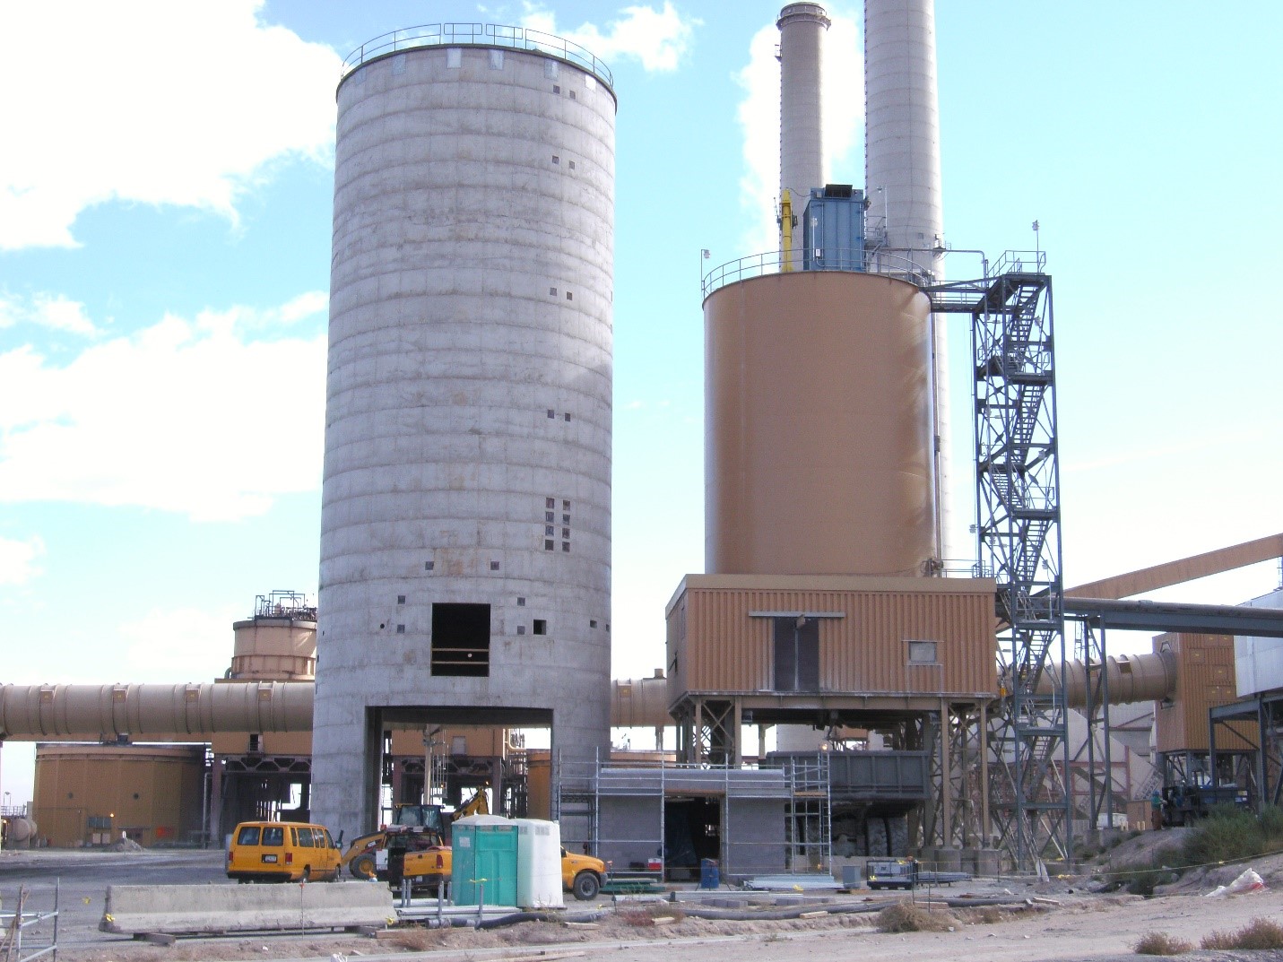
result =
[{"label": "low wide tan tank under the duct at far left", "polygon": [[[200,829],[203,745],[40,745],[33,816],[51,845],[186,841]],[[94,827],[91,818],[110,827]]]}]

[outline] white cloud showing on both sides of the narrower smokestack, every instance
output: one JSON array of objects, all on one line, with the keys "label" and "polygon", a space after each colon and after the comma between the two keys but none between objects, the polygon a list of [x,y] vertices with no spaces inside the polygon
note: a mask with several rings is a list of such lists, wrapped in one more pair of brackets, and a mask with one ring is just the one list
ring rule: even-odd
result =
[{"label": "white cloud showing on both sides of the narrower smokestack", "polygon": [[[829,18],[833,23],[824,40],[824,165],[831,180],[862,189],[865,78],[860,22],[834,9],[829,9]],[[780,31],[774,23],[762,27],[749,44],[748,64],[735,77],[744,89],[738,110],[745,168],[740,190],[753,215],[753,227],[743,242],[752,251],[777,250],[780,245],[775,222],[780,194],[779,42]]]}]

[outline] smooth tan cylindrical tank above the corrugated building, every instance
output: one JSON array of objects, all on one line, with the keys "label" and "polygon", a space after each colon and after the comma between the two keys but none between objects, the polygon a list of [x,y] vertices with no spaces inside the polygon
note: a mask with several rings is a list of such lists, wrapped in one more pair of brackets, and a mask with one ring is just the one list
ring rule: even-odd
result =
[{"label": "smooth tan cylindrical tank above the corrugated building", "polygon": [[704,301],[709,573],[924,573],[939,558],[929,301],[804,271]]}]

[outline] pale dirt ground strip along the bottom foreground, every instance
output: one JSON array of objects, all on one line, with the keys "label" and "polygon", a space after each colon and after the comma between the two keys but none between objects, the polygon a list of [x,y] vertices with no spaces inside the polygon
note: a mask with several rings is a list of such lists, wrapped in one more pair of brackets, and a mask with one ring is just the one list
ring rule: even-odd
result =
[{"label": "pale dirt ground strip along the bottom foreground", "polygon": [[[1101,859],[1101,868],[1121,868],[1148,859],[1155,850],[1178,841],[1175,832],[1146,834],[1119,845]],[[608,950],[617,962],[667,962],[674,952],[698,953],[701,962],[744,962],[745,956],[771,962],[828,959],[910,958],[913,962],[1114,962],[1137,959],[1134,947],[1146,932],[1164,932],[1196,947],[1211,931],[1233,931],[1255,918],[1283,922],[1283,856],[1251,863],[1265,880],[1261,891],[1207,898],[1247,866],[1197,870],[1156,898],[1094,891],[1098,880],[1089,876],[1037,880],[985,880],[949,889],[931,897],[956,899],[964,894],[985,899],[1002,898],[1007,904],[992,908],[949,908],[928,903],[917,891],[919,907],[929,908],[942,931],[885,934],[876,930],[876,915],[840,913],[842,907],[887,906],[907,895],[897,893],[831,897],[807,895],[808,918],[781,921],[729,921],[695,918],[683,903],[611,902],[594,903],[591,918],[584,906],[572,904],[567,917],[585,921],[522,922],[503,929],[393,929],[376,938],[355,935],[225,936],[180,939],[172,947],[148,945],[119,939],[72,945],[58,952],[63,962],[205,962],[209,959],[331,959],[372,962],[375,958],[405,959],[405,953],[429,953],[434,962],[500,962],[589,958]],[[1162,890],[1160,890],[1162,891]],[[694,898],[695,893],[683,893]],[[797,902],[799,897],[757,895],[754,902]],[[724,899],[718,899],[718,904]],[[812,904],[815,903],[815,904]],[[698,906],[699,903],[690,903]],[[826,907],[828,906],[828,907]],[[825,915],[819,915],[828,912]],[[574,915],[572,915],[574,913]],[[1185,958],[1214,962],[1280,959],[1283,952],[1203,952]]]}]

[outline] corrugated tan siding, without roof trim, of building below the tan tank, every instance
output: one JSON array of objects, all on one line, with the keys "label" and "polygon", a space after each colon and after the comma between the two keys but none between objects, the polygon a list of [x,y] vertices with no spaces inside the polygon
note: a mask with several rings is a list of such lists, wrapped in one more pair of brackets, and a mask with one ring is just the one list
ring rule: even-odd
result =
[{"label": "corrugated tan siding, without roof trim, of building below the tan tank", "polygon": [[[971,694],[997,686],[987,594],[694,589],[685,600],[683,690],[772,690],[771,621],[751,618],[753,611],[843,613],[820,622],[825,691]],[[940,664],[908,666],[908,640],[935,641]]]}]

